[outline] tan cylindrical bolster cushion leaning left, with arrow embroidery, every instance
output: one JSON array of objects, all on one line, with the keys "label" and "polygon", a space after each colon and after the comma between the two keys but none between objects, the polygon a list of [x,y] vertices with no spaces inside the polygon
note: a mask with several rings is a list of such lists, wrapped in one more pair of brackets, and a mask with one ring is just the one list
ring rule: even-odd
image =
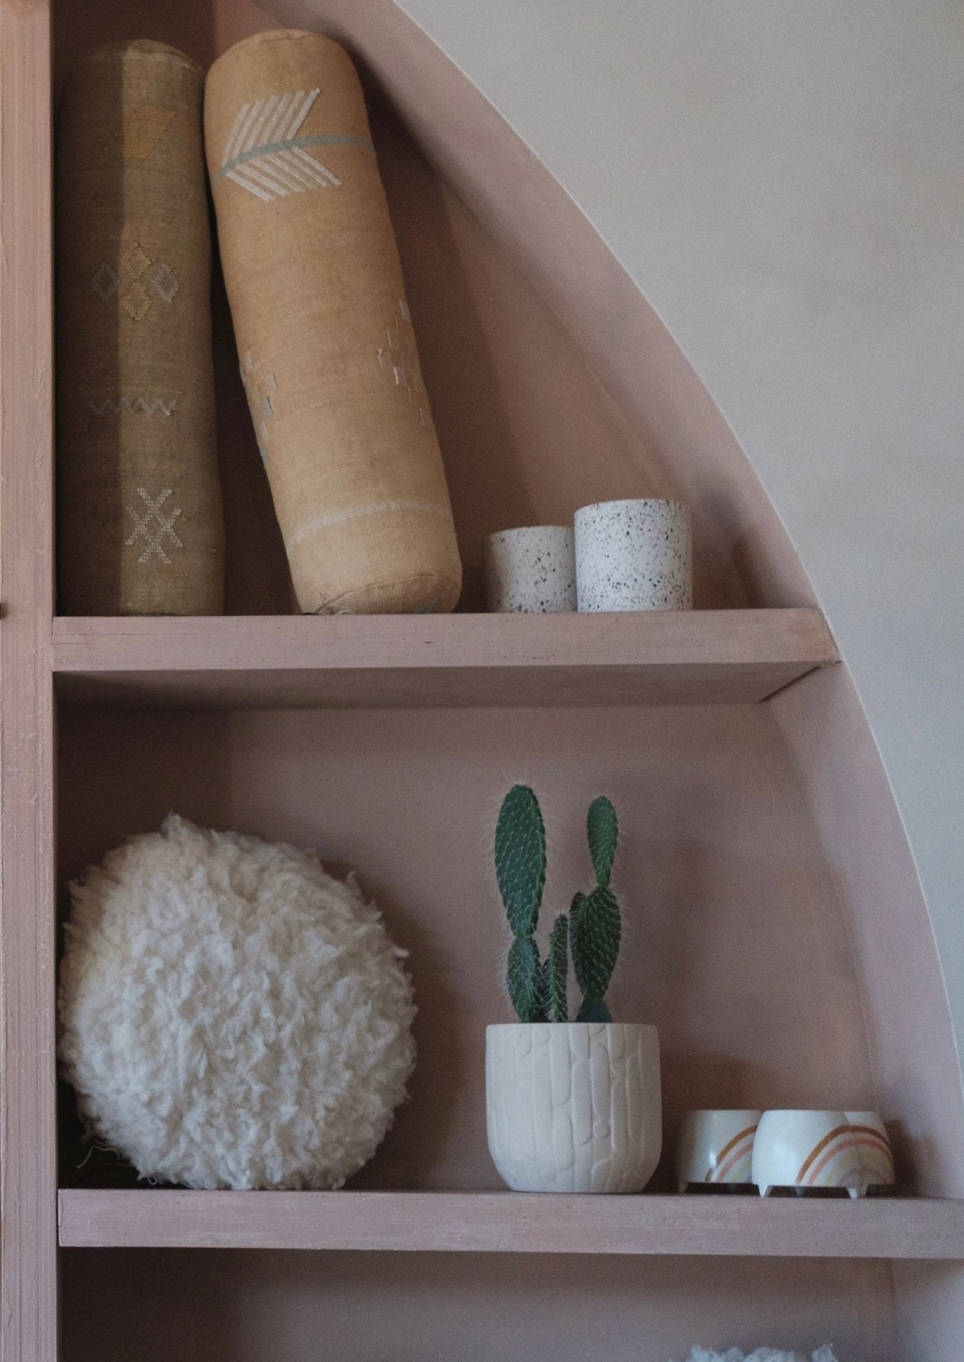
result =
[{"label": "tan cylindrical bolster cushion leaning left, with arrow embroidery", "polygon": [[264,33],[211,67],[207,162],[241,375],[301,609],[451,610],[462,567],[365,101]]}]

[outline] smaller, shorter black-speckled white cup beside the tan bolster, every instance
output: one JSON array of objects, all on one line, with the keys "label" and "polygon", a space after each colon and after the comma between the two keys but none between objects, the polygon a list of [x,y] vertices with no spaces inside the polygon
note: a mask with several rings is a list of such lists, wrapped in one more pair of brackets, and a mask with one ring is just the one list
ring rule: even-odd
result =
[{"label": "smaller, shorter black-speckled white cup beside the tan bolster", "polygon": [[482,546],[486,610],[557,614],[576,609],[575,537],[565,524],[500,530]]}]

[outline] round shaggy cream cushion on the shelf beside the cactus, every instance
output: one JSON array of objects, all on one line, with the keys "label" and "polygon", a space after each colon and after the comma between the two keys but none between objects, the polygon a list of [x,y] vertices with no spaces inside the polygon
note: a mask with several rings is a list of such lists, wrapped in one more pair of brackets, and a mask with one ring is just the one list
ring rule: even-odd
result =
[{"label": "round shaggy cream cushion on the shelf beside the cactus", "polygon": [[338,1188],[414,1062],[406,952],[310,851],[170,816],[71,885],[60,1057],[142,1177]]}]

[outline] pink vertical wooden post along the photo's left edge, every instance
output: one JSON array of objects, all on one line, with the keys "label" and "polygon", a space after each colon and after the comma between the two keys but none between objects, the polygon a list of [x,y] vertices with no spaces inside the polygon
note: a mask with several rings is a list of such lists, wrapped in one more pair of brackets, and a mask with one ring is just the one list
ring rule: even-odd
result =
[{"label": "pink vertical wooden post along the photo's left edge", "polygon": [[56,1362],[50,14],[0,3],[0,1355]]}]

